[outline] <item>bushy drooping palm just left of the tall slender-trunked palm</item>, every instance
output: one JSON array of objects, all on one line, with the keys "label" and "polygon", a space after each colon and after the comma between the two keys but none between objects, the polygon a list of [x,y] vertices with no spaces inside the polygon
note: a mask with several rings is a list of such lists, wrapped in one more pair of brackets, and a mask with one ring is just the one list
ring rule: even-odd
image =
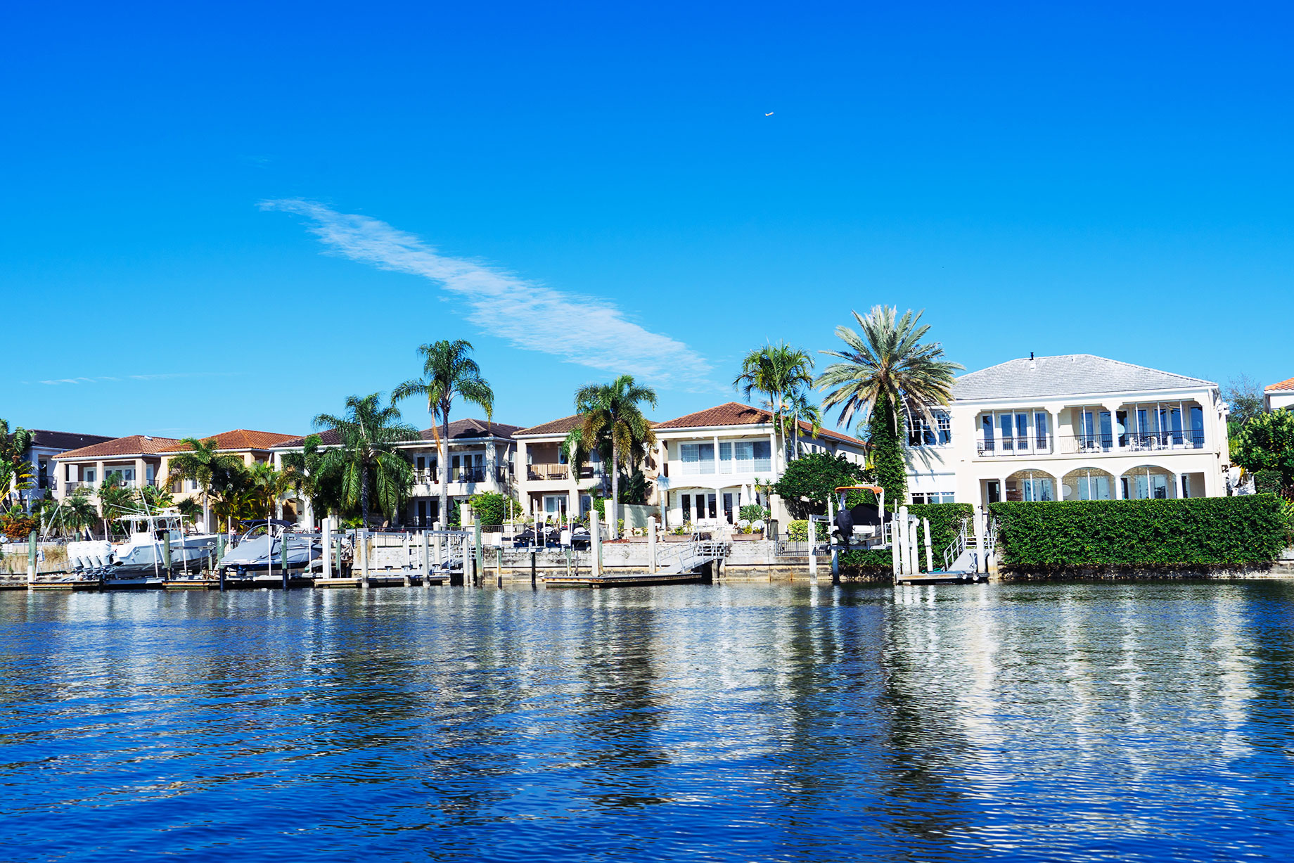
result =
[{"label": "bushy drooping palm just left of the tall slender-trunked palm", "polygon": [[418,430],[401,422],[395,404],[382,406],[380,393],[351,396],[340,417],[320,414],[316,428],[331,428],[342,445],[329,449],[321,459],[324,471],[335,470],[342,476],[342,494],[347,506],[360,505],[364,525],[369,524],[370,484],[378,506],[389,519],[413,485],[413,466],[397,449],[399,444],[421,440]]}]

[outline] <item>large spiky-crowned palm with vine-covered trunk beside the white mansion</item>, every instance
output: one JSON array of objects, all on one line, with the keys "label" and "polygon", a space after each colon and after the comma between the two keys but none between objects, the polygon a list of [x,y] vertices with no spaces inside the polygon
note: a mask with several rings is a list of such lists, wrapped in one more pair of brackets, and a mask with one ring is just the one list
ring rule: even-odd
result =
[{"label": "large spiky-crowned palm with vine-covered trunk beside the white mansion", "polygon": [[921,343],[930,326],[920,325],[923,312],[911,309],[898,317],[894,307],[876,305],[867,314],[854,312],[859,331],[837,326],[845,351],[823,351],[841,362],[827,366],[814,382],[829,391],[823,408],[840,409],[840,423],[854,417],[868,423],[868,441],[876,463],[876,479],[895,506],[907,497],[907,467],[903,461],[905,421],[916,414],[932,427],[932,408],[952,397],[952,373],[963,369],[943,358],[938,342]]}]

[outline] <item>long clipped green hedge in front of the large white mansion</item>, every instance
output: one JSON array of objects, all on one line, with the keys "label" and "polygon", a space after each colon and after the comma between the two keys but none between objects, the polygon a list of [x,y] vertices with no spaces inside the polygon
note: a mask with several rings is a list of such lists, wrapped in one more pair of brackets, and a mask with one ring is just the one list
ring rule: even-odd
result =
[{"label": "long clipped green hedge in front of the large white mansion", "polygon": [[1285,545],[1272,494],[991,503],[1008,571],[1238,567]]}]

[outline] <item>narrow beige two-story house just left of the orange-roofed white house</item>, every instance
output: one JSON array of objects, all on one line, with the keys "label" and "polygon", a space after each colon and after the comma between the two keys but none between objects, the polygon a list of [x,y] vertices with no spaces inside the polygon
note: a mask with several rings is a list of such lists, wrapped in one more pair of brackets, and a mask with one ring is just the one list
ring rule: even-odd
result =
[{"label": "narrow beige two-story house just left of the orange-roofed white house", "polygon": [[516,440],[518,496],[527,516],[560,521],[584,516],[593,506],[594,492],[609,494],[609,484],[597,453],[575,470],[562,453],[567,435],[582,424],[578,414],[520,428]]}]

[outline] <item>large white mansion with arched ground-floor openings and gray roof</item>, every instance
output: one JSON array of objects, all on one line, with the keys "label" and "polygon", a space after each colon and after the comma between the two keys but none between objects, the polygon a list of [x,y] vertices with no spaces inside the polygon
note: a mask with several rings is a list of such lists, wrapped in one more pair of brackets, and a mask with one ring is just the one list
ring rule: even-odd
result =
[{"label": "large white mansion with arched ground-floor openings and gray roof", "polygon": [[1227,493],[1227,405],[1209,380],[1075,353],[965,374],[952,395],[908,435],[914,502]]}]

